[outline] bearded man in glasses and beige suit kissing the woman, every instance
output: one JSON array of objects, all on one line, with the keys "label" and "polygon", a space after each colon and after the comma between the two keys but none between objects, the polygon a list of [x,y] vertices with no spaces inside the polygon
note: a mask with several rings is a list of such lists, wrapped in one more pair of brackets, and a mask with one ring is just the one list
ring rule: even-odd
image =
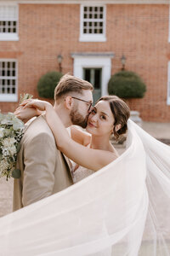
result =
[{"label": "bearded man in glasses and beige suit kissing the woman", "polygon": [[[93,102],[92,91],[93,85],[88,81],[71,75],[60,79],[54,91],[54,110],[65,127],[86,127]],[[14,179],[14,211],[71,186],[69,160],[56,148],[45,115],[27,125],[17,167],[21,177]]]}]

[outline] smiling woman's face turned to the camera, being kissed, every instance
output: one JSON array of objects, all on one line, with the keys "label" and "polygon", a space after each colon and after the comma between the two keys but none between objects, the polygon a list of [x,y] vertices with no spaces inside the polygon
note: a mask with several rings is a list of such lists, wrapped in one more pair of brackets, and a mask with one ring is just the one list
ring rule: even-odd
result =
[{"label": "smiling woman's face turned to the camera, being kissed", "polygon": [[110,136],[114,121],[109,102],[99,101],[88,116],[86,130],[96,136]]}]

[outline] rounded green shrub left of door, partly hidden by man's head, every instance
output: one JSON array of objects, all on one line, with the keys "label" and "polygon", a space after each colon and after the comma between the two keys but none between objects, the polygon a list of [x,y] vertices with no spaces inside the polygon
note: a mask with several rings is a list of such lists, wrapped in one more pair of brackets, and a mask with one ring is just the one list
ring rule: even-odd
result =
[{"label": "rounded green shrub left of door, partly hidden by man's head", "polygon": [[38,95],[44,98],[54,99],[54,89],[62,76],[62,73],[56,71],[42,75],[37,83]]}]

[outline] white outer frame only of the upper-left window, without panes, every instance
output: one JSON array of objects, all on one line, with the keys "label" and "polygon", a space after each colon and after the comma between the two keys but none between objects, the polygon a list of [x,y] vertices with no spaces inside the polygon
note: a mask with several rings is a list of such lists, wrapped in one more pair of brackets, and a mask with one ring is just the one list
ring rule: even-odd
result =
[{"label": "white outer frame only of the upper-left window, without panes", "polygon": [[[19,5],[17,3],[3,2],[3,3],[0,3],[0,7],[1,6],[7,6],[7,7],[14,6],[16,8],[17,17],[15,21],[17,22],[17,25],[16,25],[16,32],[14,33],[0,32],[0,41],[18,41],[19,40]],[[10,21],[10,19],[8,21]]]}]

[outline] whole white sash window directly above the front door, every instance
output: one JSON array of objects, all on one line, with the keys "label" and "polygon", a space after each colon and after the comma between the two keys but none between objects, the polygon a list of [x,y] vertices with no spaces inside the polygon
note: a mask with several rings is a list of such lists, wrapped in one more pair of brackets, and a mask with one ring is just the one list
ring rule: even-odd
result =
[{"label": "whole white sash window directly above the front door", "polygon": [[105,6],[81,5],[80,41],[104,42],[105,38]]}]

